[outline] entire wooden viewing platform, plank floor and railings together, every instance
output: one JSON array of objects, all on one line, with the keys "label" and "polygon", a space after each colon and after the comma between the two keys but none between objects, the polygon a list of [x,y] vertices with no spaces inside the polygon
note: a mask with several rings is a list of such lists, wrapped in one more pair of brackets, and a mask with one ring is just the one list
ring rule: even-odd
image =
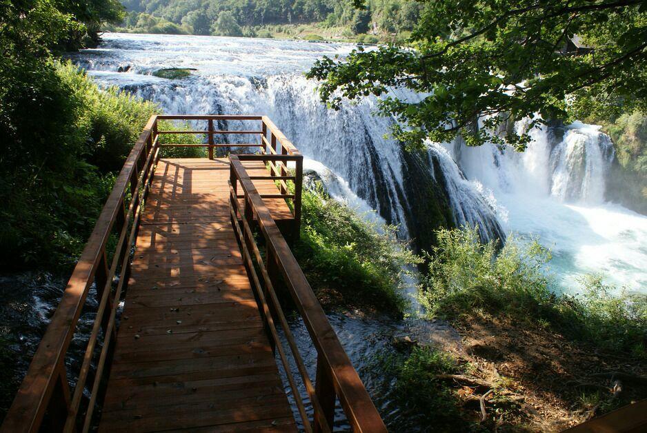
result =
[{"label": "entire wooden viewing platform, plank floor and railings together", "polygon": [[[177,131],[158,130],[159,119],[206,121],[206,130],[191,133],[206,134],[209,157],[160,158],[160,135]],[[232,121],[261,128],[214,128]],[[214,137],[231,133],[260,137],[244,145],[260,153],[215,159],[214,148],[230,145]],[[326,432],[336,399],[353,430],[386,431],[286,241],[299,236],[302,163],[266,117],[152,117],[2,432],[296,431],[297,425]],[[70,362],[70,341],[92,287],[98,303],[92,331],[77,336],[87,340],[85,356]],[[279,288],[317,350],[314,380],[281,310]]]}]

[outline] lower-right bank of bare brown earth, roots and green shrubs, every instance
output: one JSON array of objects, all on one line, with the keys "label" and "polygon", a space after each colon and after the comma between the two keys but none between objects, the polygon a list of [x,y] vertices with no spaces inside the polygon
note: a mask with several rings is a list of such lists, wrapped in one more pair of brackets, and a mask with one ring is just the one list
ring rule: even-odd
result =
[{"label": "lower-right bank of bare brown earth, roots and green shrubs", "polygon": [[412,345],[383,364],[420,425],[555,431],[647,397],[645,294],[593,276],[556,294],[537,242],[512,236],[497,252],[476,230],[437,236],[420,298],[462,348]]}]

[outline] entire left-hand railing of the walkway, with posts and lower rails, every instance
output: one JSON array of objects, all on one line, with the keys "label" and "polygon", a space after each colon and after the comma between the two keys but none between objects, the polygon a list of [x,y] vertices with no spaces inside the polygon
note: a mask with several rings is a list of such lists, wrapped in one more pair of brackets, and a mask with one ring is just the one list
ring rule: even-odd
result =
[{"label": "entire left-hand railing of the walkway, with posts and lower rails", "polygon": [[[155,116],[150,118],[119,172],[2,424],[2,432],[36,432],[45,427],[43,420],[50,431],[86,432],[90,427],[94,405],[101,396],[101,377],[115,343],[117,306],[128,281],[130,250],[159,158],[159,144],[154,137],[156,122]],[[111,252],[108,245],[113,235],[118,241]],[[73,374],[72,392],[66,355],[92,285],[97,290],[99,305],[81,367]],[[96,370],[90,377],[92,362]],[[84,390],[88,390],[89,399]]]}]

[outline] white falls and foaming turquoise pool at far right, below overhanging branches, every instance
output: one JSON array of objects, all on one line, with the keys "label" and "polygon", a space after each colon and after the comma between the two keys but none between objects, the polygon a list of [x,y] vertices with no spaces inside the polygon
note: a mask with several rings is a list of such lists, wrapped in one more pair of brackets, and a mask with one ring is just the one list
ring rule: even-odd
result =
[{"label": "white falls and foaming turquoise pool at far right, below overhanging branches", "polygon": [[452,153],[466,176],[479,179],[505,210],[506,232],[539,236],[553,250],[552,268],[564,290],[576,291],[581,274],[590,273],[646,291],[647,218],[605,197],[615,157],[610,138],[580,122],[535,128],[530,135],[522,153],[495,145],[455,145]]}]

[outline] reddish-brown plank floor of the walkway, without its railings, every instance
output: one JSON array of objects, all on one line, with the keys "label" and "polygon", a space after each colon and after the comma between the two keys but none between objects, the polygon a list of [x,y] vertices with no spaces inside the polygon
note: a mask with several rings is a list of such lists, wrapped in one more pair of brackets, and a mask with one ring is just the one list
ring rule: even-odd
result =
[{"label": "reddish-brown plank floor of the walkway, without its railings", "polygon": [[[230,223],[229,176],[226,159],[159,161],[99,430],[296,430]],[[283,199],[265,201],[292,218]]]}]

